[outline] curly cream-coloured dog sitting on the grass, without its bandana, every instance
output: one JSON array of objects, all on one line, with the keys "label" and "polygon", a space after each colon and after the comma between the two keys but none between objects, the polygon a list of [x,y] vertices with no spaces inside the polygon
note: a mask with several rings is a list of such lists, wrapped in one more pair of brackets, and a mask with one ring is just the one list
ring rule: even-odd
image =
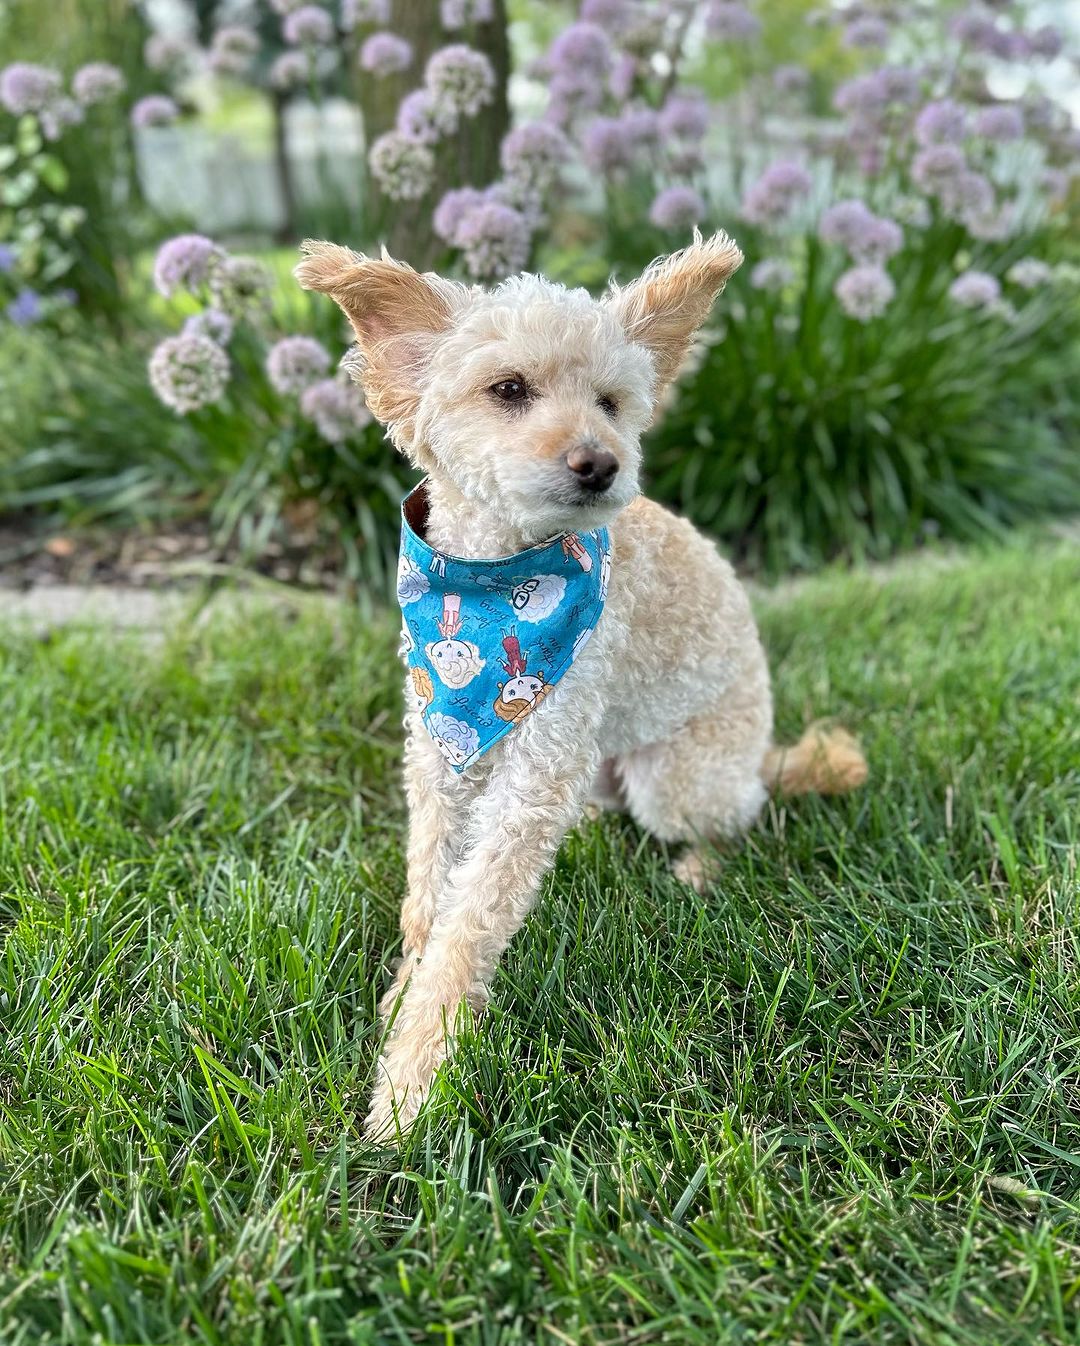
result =
[{"label": "curly cream-coloured dog sitting on the grass, without its bandana", "polygon": [[[486,1003],[500,957],[590,806],[687,843],[675,871],[700,888],[710,843],[745,833],[769,791],[854,789],[866,763],[842,730],[773,743],[769,669],[745,590],[711,541],[640,494],[641,436],[742,262],[735,242],[695,232],[601,299],[533,275],[487,291],[417,273],[385,250],[307,242],[303,252],[296,279],[341,306],[356,334],[346,367],[427,474],[417,525],[432,555],[482,560],[560,536],[607,538],[591,637],[545,684],[543,704],[473,765],[462,769],[463,750],[457,759],[440,750],[423,724],[427,696],[415,673],[407,681],[403,950],[380,1005],[386,1027],[365,1121],[370,1139],[388,1139],[412,1125],[455,1015]],[[423,685],[434,695],[430,676]]]}]

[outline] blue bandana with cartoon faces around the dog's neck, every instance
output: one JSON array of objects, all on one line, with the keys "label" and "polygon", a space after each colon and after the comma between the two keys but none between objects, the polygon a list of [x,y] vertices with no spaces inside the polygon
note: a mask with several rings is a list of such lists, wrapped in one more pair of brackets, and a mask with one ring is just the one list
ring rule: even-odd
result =
[{"label": "blue bandana with cartoon faces around the dog's neck", "polygon": [[409,707],[455,771],[520,724],[584,649],[603,611],[607,529],[469,561],[420,536],[423,482],[401,505],[397,602]]}]

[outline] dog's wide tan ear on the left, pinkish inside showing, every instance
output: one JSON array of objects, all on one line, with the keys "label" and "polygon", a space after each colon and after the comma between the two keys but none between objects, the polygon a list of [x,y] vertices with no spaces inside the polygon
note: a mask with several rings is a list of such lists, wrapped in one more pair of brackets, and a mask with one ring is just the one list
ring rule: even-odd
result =
[{"label": "dog's wide tan ear on the left, pinkish inside showing", "polygon": [[354,367],[368,405],[395,437],[412,437],[424,365],[439,334],[467,302],[469,291],[395,261],[365,257],[337,244],[308,241],[294,275],[304,289],[330,295],[353,326]]}]

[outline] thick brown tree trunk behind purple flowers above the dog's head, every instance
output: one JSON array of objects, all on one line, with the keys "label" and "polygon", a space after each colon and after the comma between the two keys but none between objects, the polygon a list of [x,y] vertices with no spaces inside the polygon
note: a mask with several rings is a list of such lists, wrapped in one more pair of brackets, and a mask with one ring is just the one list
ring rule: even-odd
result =
[{"label": "thick brown tree trunk behind purple flowers above the dog's head", "polygon": [[361,71],[360,105],[368,145],[393,125],[399,102],[420,85],[427,59],[439,47],[466,42],[482,51],[496,71],[493,102],[435,147],[435,183],[426,197],[420,201],[389,201],[368,174],[368,219],[376,227],[377,241],[385,241],[395,257],[427,269],[444,252],[444,244],[431,229],[431,215],[439,198],[451,187],[486,187],[498,176],[498,147],[510,120],[506,102],[510,74],[506,3],[496,0],[490,23],[471,24],[463,34],[446,34],[439,26],[434,0],[409,0],[399,5],[393,28],[412,43],[413,61],[400,75],[382,79]]}]

